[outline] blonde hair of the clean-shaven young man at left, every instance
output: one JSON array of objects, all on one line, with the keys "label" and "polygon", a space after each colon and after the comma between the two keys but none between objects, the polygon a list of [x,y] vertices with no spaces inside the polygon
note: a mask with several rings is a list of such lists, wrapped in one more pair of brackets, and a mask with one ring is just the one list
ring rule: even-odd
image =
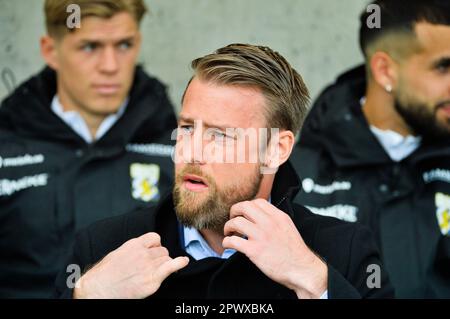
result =
[{"label": "blonde hair of the clean-shaven young man at left", "polygon": [[61,38],[75,29],[67,27],[67,12],[69,5],[78,5],[81,9],[81,19],[86,17],[99,17],[109,19],[117,13],[130,13],[136,23],[140,22],[147,12],[143,0],[45,0],[45,24],[47,33]]}]

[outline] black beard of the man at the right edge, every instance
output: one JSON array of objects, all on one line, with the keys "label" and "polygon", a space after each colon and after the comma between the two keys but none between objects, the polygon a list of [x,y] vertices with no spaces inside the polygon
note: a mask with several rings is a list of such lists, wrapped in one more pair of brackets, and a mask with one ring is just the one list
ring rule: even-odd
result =
[{"label": "black beard of the man at the right edge", "polygon": [[436,112],[448,102],[438,104],[433,110],[421,103],[400,103],[395,99],[395,109],[416,135],[427,140],[443,140],[450,137],[450,122],[447,127],[438,122]]}]

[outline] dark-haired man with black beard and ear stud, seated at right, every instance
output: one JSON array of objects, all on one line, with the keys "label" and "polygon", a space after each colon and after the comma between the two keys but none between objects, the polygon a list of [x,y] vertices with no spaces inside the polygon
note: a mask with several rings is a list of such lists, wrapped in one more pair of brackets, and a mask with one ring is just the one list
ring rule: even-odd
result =
[{"label": "dark-haired man with black beard and ear stud, seated at right", "polygon": [[450,5],[379,0],[365,65],[327,88],[292,163],[312,212],[369,226],[397,296],[450,298]]}]

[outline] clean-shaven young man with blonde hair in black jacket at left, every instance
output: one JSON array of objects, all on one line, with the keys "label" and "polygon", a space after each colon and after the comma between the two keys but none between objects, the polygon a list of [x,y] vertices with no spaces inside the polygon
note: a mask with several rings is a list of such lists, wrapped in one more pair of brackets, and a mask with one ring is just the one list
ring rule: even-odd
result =
[{"label": "clean-shaven young man with blonde hair in black jacket at left", "polygon": [[0,298],[50,297],[78,229],[171,185],[176,118],[136,66],[145,13],[142,0],[45,1],[47,67],[0,108]]}]

